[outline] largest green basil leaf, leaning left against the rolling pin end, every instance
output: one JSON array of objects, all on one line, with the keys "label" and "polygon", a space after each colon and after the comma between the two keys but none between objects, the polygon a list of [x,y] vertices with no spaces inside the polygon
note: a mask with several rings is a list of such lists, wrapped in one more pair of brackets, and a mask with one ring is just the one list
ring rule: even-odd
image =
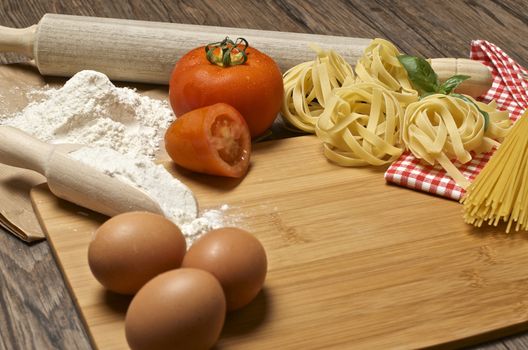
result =
[{"label": "largest green basil leaf, leaning left against the rolling pin end", "polygon": [[438,92],[438,76],[429,62],[423,58],[409,55],[400,55],[398,60],[407,71],[409,80],[420,95],[426,92]]}]

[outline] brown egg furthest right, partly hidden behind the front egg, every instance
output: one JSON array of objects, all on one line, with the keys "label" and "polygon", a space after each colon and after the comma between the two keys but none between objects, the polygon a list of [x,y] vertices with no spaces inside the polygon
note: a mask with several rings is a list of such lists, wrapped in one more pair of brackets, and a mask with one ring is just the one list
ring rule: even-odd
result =
[{"label": "brown egg furthest right, partly hidden behind the front egg", "polygon": [[241,308],[262,289],[268,263],[264,247],[244,230],[226,227],[209,231],[183,258],[182,267],[212,273],[222,285],[227,309]]}]

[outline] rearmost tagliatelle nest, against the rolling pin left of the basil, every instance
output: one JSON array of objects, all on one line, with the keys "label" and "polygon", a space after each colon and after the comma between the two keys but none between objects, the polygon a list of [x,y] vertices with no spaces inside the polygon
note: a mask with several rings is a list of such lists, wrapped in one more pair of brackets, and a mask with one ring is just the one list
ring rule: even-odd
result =
[{"label": "rearmost tagliatelle nest, against the rolling pin left of the basil", "polygon": [[378,83],[394,91],[405,106],[418,100],[418,92],[398,60],[400,55],[396,46],[389,41],[374,39],[358,60],[355,71],[358,80]]}]

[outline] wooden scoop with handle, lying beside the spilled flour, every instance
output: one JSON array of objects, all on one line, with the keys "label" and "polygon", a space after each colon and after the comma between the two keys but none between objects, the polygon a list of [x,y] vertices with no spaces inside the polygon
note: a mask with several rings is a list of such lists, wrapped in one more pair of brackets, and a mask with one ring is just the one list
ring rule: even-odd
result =
[{"label": "wooden scoop with handle, lying beside the spilled flour", "polygon": [[57,197],[109,216],[136,210],[163,214],[145,192],[70,158],[79,145],[51,145],[4,125],[0,140],[0,162],[44,175]]}]

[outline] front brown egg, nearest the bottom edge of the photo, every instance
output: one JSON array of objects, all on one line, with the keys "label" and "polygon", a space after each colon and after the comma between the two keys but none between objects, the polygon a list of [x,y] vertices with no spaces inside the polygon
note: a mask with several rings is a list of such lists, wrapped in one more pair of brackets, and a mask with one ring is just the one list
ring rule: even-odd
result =
[{"label": "front brown egg, nearest the bottom edge of the photo", "polygon": [[226,313],[222,287],[197,269],[165,272],[134,296],[125,318],[132,350],[206,350],[218,340]]}]

